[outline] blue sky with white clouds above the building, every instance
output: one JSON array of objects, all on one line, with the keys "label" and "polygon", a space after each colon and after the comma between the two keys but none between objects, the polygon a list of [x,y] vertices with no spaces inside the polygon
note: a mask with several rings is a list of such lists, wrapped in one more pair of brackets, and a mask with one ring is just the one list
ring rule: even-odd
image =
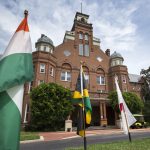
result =
[{"label": "blue sky with white clouds above the building", "polygon": [[128,72],[140,74],[150,66],[150,0],[0,0],[0,54],[29,11],[33,51],[45,34],[57,46],[70,31],[76,12],[88,14],[101,49],[116,51]]}]

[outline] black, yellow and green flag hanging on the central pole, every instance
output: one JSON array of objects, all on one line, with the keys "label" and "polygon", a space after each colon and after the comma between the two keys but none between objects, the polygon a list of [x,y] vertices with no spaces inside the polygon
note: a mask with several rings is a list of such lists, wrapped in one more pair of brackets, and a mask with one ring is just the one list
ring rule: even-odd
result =
[{"label": "black, yellow and green flag hanging on the central pole", "polygon": [[72,103],[77,104],[78,107],[78,114],[77,114],[77,134],[80,136],[84,136],[84,124],[83,124],[83,102],[82,98],[84,100],[84,109],[85,109],[85,126],[90,126],[91,123],[91,113],[92,113],[92,107],[91,102],[88,94],[88,90],[86,88],[86,80],[84,77],[84,73],[82,71],[82,67],[80,70],[80,73],[78,75],[77,83],[76,83],[76,89],[73,94]]}]

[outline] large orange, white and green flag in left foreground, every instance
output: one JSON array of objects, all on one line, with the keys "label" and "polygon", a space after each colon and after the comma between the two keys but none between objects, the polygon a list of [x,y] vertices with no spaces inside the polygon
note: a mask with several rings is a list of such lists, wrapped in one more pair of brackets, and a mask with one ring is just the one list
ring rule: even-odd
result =
[{"label": "large orange, white and green flag in left foreground", "polygon": [[33,79],[27,11],[0,59],[0,78],[0,150],[19,150],[24,83]]}]

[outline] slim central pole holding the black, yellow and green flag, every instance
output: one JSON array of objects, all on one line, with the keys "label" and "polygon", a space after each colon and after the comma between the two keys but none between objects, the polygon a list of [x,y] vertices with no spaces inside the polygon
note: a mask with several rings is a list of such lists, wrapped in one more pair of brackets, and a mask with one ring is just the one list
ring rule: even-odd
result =
[{"label": "slim central pole holding the black, yellow and green flag", "polygon": [[80,62],[80,79],[81,79],[81,95],[82,95],[82,111],[83,111],[83,132],[84,132],[84,150],[87,150],[87,144],[86,144],[86,134],[85,134],[85,106],[84,106],[84,98],[83,98],[83,77],[82,77],[82,61]]}]

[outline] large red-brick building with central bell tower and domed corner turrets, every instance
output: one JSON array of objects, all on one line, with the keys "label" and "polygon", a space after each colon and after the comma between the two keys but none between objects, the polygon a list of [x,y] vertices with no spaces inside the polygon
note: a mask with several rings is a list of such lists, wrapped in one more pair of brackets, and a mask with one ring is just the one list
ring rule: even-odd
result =
[{"label": "large red-brick building with central bell tower and domed corner turrets", "polygon": [[[128,73],[123,65],[123,57],[110,50],[101,50],[100,39],[94,37],[89,16],[77,12],[71,31],[66,31],[62,44],[54,47],[50,38],[41,35],[35,43],[33,52],[35,78],[26,84],[23,105],[23,122],[29,120],[29,92],[32,87],[45,82],[54,82],[75,90],[80,69],[80,61],[84,62],[84,72],[88,83],[93,116],[92,124],[114,125],[115,114],[108,104],[108,93],[115,90],[114,76],[119,79],[122,91],[132,91],[140,96],[140,76]],[[72,119],[75,122],[74,115]]]}]

